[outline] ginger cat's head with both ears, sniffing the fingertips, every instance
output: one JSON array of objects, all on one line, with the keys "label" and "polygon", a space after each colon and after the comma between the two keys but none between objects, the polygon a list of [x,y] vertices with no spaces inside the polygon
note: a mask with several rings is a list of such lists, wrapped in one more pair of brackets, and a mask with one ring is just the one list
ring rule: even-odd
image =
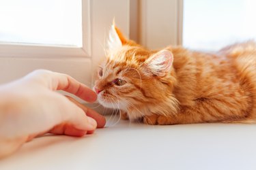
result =
[{"label": "ginger cat's head with both ears, sniffing the fingertips", "polygon": [[128,114],[137,110],[136,115],[129,116],[139,118],[146,114],[146,105],[167,100],[175,83],[173,54],[169,50],[147,50],[126,39],[115,24],[109,31],[107,46],[94,86],[104,107],[122,109]]}]

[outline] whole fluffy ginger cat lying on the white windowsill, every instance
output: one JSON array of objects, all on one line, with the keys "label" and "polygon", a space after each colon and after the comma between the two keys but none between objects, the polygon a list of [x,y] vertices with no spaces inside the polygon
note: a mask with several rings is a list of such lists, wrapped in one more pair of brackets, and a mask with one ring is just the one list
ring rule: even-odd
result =
[{"label": "whole fluffy ginger cat lying on the white windowsill", "polygon": [[147,50],[113,24],[94,90],[104,107],[146,124],[256,122],[256,44],[208,54]]}]

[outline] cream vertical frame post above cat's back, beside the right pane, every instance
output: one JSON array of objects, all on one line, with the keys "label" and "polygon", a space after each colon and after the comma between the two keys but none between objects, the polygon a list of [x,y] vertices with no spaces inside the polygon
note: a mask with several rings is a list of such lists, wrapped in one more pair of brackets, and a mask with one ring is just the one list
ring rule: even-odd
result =
[{"label": "cream vertical frame post above cat's back, beside the right pane", "polygon": [[139,42],[143,46],[182,45],[183,0],[140,0],[139,10]]}]

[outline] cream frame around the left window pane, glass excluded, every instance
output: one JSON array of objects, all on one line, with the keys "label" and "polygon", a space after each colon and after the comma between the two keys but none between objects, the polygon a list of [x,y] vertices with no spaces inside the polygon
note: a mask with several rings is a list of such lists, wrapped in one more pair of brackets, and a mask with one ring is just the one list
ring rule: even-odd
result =
[{"label": "cream frame around the left window pane, glass excluded", "polygon": [[113,18],[129,36],[130,0],[82,0],[83,47],[0,44],[0,84],[34,69],[67,73],[92,86],[94,72],[104,57],[102,44]]}]

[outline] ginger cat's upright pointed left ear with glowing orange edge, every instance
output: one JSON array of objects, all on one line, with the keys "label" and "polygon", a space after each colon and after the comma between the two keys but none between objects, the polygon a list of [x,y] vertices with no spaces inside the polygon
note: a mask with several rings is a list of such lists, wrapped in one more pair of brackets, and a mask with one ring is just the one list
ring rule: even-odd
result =
[{"label": "ginger cat's upright pointed left ear with glowing orange edge", "polygon": [[108,50],[109,51],[117,50],[126,43],[127,43],[126,38],[121,33],[121,31],[115,26],[115,20],[113,20],[113,24],[111,25],[111,29],[109,31],[109,39],[107,41]]}]

